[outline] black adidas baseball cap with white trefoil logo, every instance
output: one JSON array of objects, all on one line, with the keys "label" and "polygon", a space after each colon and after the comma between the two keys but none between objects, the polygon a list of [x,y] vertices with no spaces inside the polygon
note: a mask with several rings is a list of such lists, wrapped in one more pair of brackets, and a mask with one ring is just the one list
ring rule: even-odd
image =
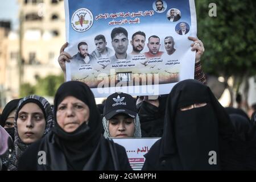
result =
[{"label": "black adidas baseball cap with white trefoil logo", "polygon": [[135,118],[137,115],[136,101],[129,94],[113,93],[106,99],[103,116],[109,120],[121,113]]}]

